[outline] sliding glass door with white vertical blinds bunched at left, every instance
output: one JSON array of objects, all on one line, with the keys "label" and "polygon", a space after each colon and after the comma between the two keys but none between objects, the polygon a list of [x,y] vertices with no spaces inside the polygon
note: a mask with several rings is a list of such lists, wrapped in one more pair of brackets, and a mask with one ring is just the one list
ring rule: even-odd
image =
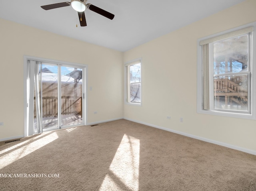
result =
[{"label": "sliding glass door with white vertical blinds bunched at left", "polygon": [[28,134],[85,124],[85,67],[28,60],[27,72]]}]

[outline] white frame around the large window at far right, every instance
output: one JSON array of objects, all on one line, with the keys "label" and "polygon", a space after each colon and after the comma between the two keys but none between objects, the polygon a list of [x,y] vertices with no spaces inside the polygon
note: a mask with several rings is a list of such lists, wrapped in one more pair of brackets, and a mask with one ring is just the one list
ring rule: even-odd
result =
[{"label": "white frame around the large window at far right", "polygon": [[[252,38],[252,45],[251,45],[251,51],[248,56],[248,60],[251,61],[251,83],[248,87],[248,93],[250,93],[251,102],[250,102],[250,113],[244,113],[244,112],[232,112],[230,111],[220,111],[220,110],[213,110],[212,109],[212,103],[210,103],[210,107],[206,110],[203,109],[203,103],[204,103],[204,90],[206,90],[209,87],[203,87],[203,54],[202,44],[210,43],[211,41],[218,41],[221,39],[225,39],[224,36],[232,35],[237,36],[236,33],[239,33],[241,30],[244,30],[245,28],[248,28],[248,30],[253,29],[251,32],[251,38]],[[200,114],[211,114],[211,115],[217,115],[217,116],[227,116],[227,117],[234,117],[234,118],[245,118],[245,119],[253,119],[256,120],[256,22],[246,24],[237,28],[233,28],[224,32],[216,33],[214,35],[210,35],[207,37],[203,37],[198,39],[197,41],[197,50],[198,50],[198,61],[197,61],[197,112]],[[210,75],[209,75],[210,76]],[[211,79],[211,76],[209,77]],[[211,81],[208,83],[209,86],[211,86]],[[210,87],[211,88],[211,87]],[[209,93],[210,99],[212,99],[213,95]],[[249,104],[249,103],[248,103]]]}]

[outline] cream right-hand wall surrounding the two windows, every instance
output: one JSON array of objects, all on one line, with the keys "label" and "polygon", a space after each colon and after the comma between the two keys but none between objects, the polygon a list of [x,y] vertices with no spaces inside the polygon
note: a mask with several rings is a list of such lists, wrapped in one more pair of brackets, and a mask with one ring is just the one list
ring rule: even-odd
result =
[{"label": "cream right-hand wall surrounding the two windows", "polygon": [[142,107],[124,105],[124,117],[256,153],[255,120],[196,112],[197,40],[256,21],[255,10],[248,0],[126,51],[124,63],[142,57],[143,100]]}]

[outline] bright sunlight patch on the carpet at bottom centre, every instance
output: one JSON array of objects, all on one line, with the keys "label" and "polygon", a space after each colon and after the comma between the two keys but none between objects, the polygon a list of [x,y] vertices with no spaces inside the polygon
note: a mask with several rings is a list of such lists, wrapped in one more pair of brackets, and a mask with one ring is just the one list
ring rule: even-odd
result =
[{"label": "bright sunlight patch on the carpet at bottom centre", "polygon": [[139,189],[140,140],[124,134],[100,191]]}]

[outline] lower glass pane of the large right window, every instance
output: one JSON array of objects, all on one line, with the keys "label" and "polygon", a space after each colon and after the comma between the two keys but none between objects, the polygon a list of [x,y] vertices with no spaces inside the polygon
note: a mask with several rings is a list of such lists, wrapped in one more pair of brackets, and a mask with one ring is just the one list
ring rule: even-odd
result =
[{"label": "lower glass pane of the large right window", "polygon": [[248,111],[248,75],[214,77],[214,108]]}]

